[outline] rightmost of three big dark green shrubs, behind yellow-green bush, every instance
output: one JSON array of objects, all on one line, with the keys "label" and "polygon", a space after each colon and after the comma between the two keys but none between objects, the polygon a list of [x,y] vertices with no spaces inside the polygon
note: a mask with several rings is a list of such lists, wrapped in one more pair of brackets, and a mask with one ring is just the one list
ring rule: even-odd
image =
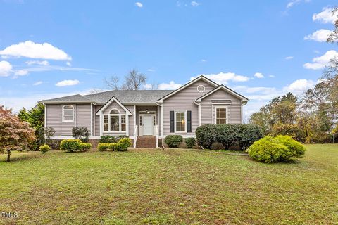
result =
[{"label": "rightmost of three big dark green shrubs, behind yellow-green bush", "polygon": [[237,124],[237,143],[242,150],[249,148],[253,142],[263,138],[261,127],[254,124]]}]

